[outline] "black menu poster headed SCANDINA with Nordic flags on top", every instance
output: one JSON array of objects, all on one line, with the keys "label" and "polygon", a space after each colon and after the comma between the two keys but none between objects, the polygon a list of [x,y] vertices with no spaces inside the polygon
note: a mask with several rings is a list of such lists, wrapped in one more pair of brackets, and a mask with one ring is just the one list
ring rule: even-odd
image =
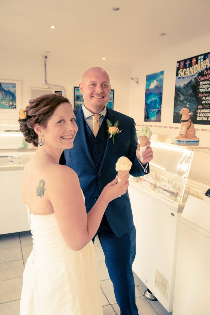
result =
[{"label": "black menu poster headed SCANDINA with Nordic flags on top", "polygon": [[210,125],[210,53],[177,62],[173,123],[188,108],[194,124]]}]

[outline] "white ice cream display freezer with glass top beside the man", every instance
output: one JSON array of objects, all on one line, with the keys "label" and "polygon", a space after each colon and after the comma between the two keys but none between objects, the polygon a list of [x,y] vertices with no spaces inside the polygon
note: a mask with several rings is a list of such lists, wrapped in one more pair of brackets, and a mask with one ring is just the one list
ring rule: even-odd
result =
[{"label": "white ice cream display freezer with glass top beside the man", "polygon": [[[173,310],[180,218],[188,199],[209,188],[210,148],[152,142],[150,174],[130,177],[136,227],[133,271],[168,312]],[[196,289],[196,288],[195,288]]]}]

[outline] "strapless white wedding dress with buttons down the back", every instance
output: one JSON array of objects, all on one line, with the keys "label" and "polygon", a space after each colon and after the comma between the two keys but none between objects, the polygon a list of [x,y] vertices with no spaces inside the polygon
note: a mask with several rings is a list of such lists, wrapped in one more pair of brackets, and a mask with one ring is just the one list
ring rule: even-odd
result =
[{"label": "strapless white wedding dress with buttons down the back", "polygon": [[93,242],[74,251],[54,213],[34,215],[28,209],[28,216],[33,249],[23,274],[20,315],[102,315]]}]

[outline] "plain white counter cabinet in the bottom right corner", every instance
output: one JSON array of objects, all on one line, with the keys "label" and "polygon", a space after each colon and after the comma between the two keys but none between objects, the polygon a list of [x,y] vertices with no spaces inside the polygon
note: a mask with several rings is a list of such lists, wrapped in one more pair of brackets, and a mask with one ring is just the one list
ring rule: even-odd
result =
[{"label": "plain white counter cabinet in the bottom right corner", "polygon": [[173,315],[210,314],[209,294],[210,202],[189,196],[180,218]]}]

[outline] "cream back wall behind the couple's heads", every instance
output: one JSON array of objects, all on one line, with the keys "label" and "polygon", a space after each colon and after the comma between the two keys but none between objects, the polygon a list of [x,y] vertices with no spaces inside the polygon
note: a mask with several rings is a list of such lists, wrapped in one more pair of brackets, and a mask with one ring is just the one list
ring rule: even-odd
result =
[{"label": "cream back wall behind the couple's heads", "polygon": [[[99,62],[72,61],[49,56],[47,59],[47,82],[64,86],[66,96],[73,104],[74,86],[79,85],[83,73],[92,66],[101,66],[108,72],[111,88],[114,89],[114,109],[129,115],[129,66],[109,64],[106,60],[104,62],[102,60]],[[42,88],[44,84],[44,61],[39,55],[0,53],[0,69],[0,79],[22,81],[23,108],[30,99],[29,88]],[[18,129],[17,120],[17,114],[0,112],[0,131]],[[13,125],[12,128],[11,125]],[[5,141],[6,139],[2,141],[0,137],[0,148],[9,148],[14,145],[14,141],[10,141],[10,146],[8,143],[6,145]]]}]

